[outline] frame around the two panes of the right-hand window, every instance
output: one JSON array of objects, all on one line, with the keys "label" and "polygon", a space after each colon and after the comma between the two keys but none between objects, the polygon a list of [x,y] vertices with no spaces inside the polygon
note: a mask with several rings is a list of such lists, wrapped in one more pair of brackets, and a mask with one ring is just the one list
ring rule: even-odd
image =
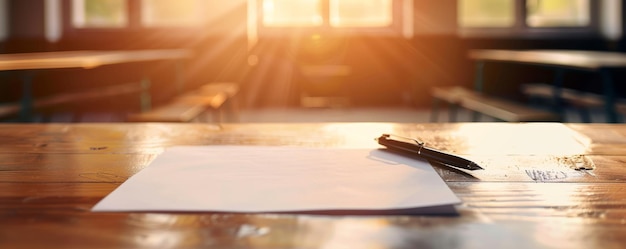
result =
[{"label": "frame around the two panes of the right-hand window", "polygon": [[[459,0],[457,0],[457,18]],[[589,24],[579,27],[531,27],[526,23],[526,0],[514,0],[515,22],[511,27],[463,27],[457,21],[457,33],[461,37],[503,38],[578,38],[599,37],[600,1],[589,0]]]}]

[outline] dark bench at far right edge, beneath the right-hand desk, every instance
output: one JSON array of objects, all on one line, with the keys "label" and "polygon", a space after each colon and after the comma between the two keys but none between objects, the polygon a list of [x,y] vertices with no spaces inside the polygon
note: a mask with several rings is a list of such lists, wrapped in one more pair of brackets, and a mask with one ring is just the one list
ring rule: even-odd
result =
[{"label": "dark bench at far right edge, beneath the right-hand desk", "polygon": [[[604,96],[600,94],[580,91],[572,88],[561,88],[561,94],[557,103],[554,99],[554,87],[549,84],[532,83],[521,86],[521,91],[530,99],[547,101],[554,108],[562,108],[566,104],[578,110],[583,122],[591,122],[589,110],[604,107]],[[562,102],[562,103],[561,103]],[[615,109],[617,113],[626,114],[626,99],[616,99]]]}]

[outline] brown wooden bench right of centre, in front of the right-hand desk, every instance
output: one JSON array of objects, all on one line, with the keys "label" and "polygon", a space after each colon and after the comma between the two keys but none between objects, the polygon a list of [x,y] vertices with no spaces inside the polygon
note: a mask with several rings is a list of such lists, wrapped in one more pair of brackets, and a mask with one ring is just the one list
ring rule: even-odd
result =
[{"label": "brown wooden bench right of centre, in front of the right-hand desk", "polygon": [[[479,92],[475,92],[462,87],[445,87],[433,88],[431,93],[435,101],[443,100],[450,104],[450,121],[456,121],[456,108],[461,107],[473,111],[475,114],[486,115],[498,120],[507,122],[542,122],[542,121],[559,121],[558,115],[532,108],[521,103],[488,96]],[[437,112],[433,106],[431,120],[436,121]],[[478,115],[474,116],[474,121]]]}]

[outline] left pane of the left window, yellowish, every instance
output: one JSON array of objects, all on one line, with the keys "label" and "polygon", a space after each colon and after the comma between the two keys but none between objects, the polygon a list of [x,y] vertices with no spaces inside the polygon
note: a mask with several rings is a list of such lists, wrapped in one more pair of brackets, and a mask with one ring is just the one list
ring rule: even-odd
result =
[{"label": "left pane of the left window, yellowish", "polygon": [[72,24],[77,28],[119,28],[128,25],[126,0],[73,0]]}]

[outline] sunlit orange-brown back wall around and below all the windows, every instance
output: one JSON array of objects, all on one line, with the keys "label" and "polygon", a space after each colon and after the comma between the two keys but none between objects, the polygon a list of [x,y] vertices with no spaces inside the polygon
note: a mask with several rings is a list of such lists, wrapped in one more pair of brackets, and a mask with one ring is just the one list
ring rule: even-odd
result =
[{"label": "sunlit orange-brown back wall around and below all the windows", "polygon": [[[475,48],[507,49],[593,49],[623,51],[621,33],[624,25],[604,26],[605,37],[461,37],[457,35],[455,0],[415,0],[413,2],[414,36],[345,35],[325,33],[314,38],[302,36],[267,36],[259,33],[251,48],[247,40],[247,0],[210,0],[215,15],[199,29],[127,30],[91,32],[72,29],[67,15],[61,15],[62,36],[46,40],[44,0],[9,1],[10,36],[6,52],[54,51],[77,49],[149,49],[189,48],[196,57],[186,63],[188,87],[211,81],[237,81],[244,86],[248,107],[292,106],[298,104],[302,87],[311,79],[303,78],[300,67],[310,64],[341,64],[351,68],[342,79],[347,93],[357,106],[430,104],[428,88],[434,85],[467,85],[473,81],[473,63],[467,51]],[[69,0],[61,2],[62,13],[68,13]],[[623,9],[621,1],[603,0]],[[618,4],[618,5],[615,5]],[[611,5],[608,5],[611,6]],[[616,7],[606,7],[615,10]],[[604,15],[603,15],[604,16]],[[606,15],[609,16],[609,15]],[[605,17],[606,17],[605,16]],[[613,18],[621,19],[621,15]],[[615,24],[615,22],[608,22]],[[0,29],[1,31],[1,29]],[[1,32],[0,32],[1,34]],[[157,65],[155,102],[167,101],[175,93],[171,84],[171,64]],[[66,72],[42,76],[42,80],[63,82],[38,94],[79,88],[86,82],[118,81],[116,75],[132,75],[135,70],[114,68],[102,70],[93,77],[73,79]],[[117,72],[117,73],[114,73]],[[526,67],[493,66],[488,91],[515,94],[521,82],[549,79],[549,72]],[[516,77],[502,78],[498,72]],[[48,78],[46,78],[48,77]],[[123,79],[122,79],[123,80]],[[310,83],[310,82],[308,82]],[[97,83],[100,84],[100,83]],[[105,83],[102,83],[105,84]],[[347,89],[347,90],[346,90]],[[19,89],[9,89],[13,94]],[[6,94],[5,94],[6,95]],[[12,95],[13,96],[13,95]],[[516,96],[519,97],[519,96]]]}]

